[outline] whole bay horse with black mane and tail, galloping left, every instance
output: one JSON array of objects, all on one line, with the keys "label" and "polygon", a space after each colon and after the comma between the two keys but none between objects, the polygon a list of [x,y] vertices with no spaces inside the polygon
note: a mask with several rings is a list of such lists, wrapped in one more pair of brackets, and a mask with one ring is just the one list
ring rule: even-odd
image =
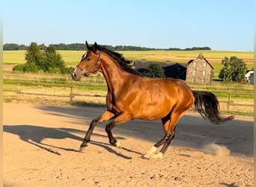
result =
[{"label": "whole bay horse with black mane and tail, galloping left", "polygon": [[[164,137],[151,147],[144,158],[162,158],[175,135],[175,127],[180,117],[194,108],[210,123],[223,123],[234,117],[222,117],[219,112],[219,101],[207,91],[191,91],[182,81],[177,79],[149,79],[141,76],[129,67],[127,61],[118,52],[112,52],[104,46],[90,45],[85,42],[88,51],[71,74],[73,80],[79,81],[82,76],[103,73],[108,86],[106,111],[91,121],[80,149],[87,146],[94,127],[104,121],[109,143],[118,147],[120,142],[112,135],[115,126],[129,120],[162,120]],[[159,153],[157,149],[162,146]]]}]

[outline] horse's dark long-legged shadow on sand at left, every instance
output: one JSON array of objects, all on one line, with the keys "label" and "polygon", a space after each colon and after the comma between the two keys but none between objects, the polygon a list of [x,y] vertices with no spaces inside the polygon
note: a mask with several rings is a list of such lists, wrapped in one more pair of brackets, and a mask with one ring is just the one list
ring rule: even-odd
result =
[{"label": "horse's dark long-legged shadow on sand at left", "polygon": [[[16,126],[4,125],[3,130],[4,130],[4,132],[8,132],[13,135],[19,135],[19,138],[22,141],[25,141],[28,144],[33,144],[34,146],[39,147],[42,150],[46,150],[49,153],[53,153],[53,154],[59,155],[59,156],[61,155],[61,153],[59,153],[58,151],[55,151],[56,149],[65,150],[65,151],[73,151],[73,152],[77,152],[77,153],[81,153],[81,152],[79,150],[75,150],[73,148],[45,144],[45,143],[43,143],[44,139],[46,139],[46,138],[52,138],[52,139],[71,138],[73,140],[82,142],[83,138],[81,138],[77,135],[74,135],[74,134],[77,134],[77,133],[82,134],[82,135],[85,134],[84,131],[81,131],[78,129],[51,128],[51,127],[32,126],[32,125],[16,125]],[[96,133],[94,133],[93,135],[103,136],[103,137],[107,138],[106,135],[100,135],[100,134],[96,134]],[[109,153],[114,153],[115,155],[121,156],[124,159],[131,159],[131,157],[129,157],[129,156],[125,156],[122,153],[118,153],[109,144],[105,144],[105,143],[99,142],[99,141],[91,141],[91,144],[94,144],[99,147],[103,147],[105,150],[109,151]],[[52,150],[51,147],[55,148],[55,150]],[[129,150],[127,148],[123,148],[123,150],[141,155],[141,153]]]}]

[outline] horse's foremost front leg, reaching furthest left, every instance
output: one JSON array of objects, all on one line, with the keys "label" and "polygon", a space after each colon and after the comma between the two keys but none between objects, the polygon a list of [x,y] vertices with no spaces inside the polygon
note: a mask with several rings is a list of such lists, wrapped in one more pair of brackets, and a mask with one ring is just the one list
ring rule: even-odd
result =
[{"label": "horse's foremost front leg, reaching furthest left", "polygon": [[88,132],[86,133],[85,138],[80,146],[80,151],[82,151],[82,148],[86,147],[87,143],[91,140],[91,134],[94,131],[95,126],[97,126],[99,123],[103,123],[104,121],[111,120],[114,116],[115,114],[112,112],[105,111],[102,115],[100,115],[100,117],[91,121]]}]

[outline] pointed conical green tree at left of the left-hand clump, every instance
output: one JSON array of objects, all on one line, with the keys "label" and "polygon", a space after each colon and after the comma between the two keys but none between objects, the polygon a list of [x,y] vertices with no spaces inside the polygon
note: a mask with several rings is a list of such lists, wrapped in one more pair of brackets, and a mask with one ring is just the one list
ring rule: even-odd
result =
[{"label": "pointed conical green tree at left of the left-hand clump", "polygon": [[30,46],[28,46],[28,50],[25,53],[25,61],[29,63],[37,63],[42,60],[42,54],[40,52],[40,48],[37,46],[37,43],[32,42]]}]

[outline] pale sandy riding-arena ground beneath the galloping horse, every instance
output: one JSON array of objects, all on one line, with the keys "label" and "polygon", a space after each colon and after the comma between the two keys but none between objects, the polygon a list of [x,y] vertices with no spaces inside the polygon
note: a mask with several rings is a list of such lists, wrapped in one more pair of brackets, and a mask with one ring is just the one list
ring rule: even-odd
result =
[{"label": "pale sandy riding-arena ground beneath the galloping horse", "polygon": [[163,136],[159,121],[105,123],[79,145],[104,108],[4,103],[4,186],[254,186],[253,119],[216,126],[187,114],[163,159],[141,156]]}]

